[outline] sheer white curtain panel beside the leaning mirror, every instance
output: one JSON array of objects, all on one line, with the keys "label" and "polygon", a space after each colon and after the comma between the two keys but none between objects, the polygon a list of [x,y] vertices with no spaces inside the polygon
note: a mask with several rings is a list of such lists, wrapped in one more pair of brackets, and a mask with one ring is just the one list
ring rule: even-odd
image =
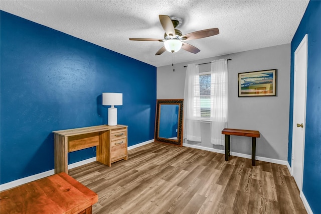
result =
[{"label": "sheer white curtain panel beside the leaning mirror", "polygon": [[[201,141],[199,77],[199,65],[189,64],[186,70],[184,89],[184,139],[189,141]],[[196,108],[194,108],[195,106]]]}]

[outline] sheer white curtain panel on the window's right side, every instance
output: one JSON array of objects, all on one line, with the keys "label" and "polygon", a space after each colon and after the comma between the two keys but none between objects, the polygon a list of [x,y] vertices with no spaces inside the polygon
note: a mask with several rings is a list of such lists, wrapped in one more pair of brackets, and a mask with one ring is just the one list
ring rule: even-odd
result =
[{"label": "sheer white curtain panel on the window's right side", "polygon": [[228,67],[226,59],[212,61],[211,66],[211,143],[224,145],[222,130],[227,128],[227,92],[228,92]]}]

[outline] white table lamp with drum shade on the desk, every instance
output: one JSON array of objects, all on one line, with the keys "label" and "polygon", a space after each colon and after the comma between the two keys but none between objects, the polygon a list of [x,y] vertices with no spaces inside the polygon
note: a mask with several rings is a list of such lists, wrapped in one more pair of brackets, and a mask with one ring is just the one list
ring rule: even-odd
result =
[{"label": "white table lamp with drum shade on the desk", "polygon": [[117,109],[114,105],[122,105],[122,93],[102,93],[102,104],[111,105],[108,108],[108,126],[117,125]]}]

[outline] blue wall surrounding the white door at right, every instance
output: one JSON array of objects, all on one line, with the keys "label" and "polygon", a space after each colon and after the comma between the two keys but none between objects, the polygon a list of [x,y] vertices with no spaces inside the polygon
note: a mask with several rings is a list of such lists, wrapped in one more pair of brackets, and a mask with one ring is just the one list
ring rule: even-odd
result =
[{"label": "blue wall surrounding the white door at right", "polygon": [[291,42],[289,164],[292,156],[294,51],[305,34],[308,53],[302,191],[313,213],[321,213],[321,1],[309,2]]}]

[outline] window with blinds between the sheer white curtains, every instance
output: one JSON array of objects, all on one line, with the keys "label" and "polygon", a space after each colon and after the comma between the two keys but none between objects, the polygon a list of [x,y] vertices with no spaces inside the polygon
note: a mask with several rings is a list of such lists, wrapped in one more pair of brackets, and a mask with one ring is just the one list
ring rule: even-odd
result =
[{"label": "window with blinds between the sheer white curtains", "polygon": [[194,95],[194,116],[199,120],[210,121],[211,105],[213,103],[211,72],[203,72],[199,76],[195,76]]}]

